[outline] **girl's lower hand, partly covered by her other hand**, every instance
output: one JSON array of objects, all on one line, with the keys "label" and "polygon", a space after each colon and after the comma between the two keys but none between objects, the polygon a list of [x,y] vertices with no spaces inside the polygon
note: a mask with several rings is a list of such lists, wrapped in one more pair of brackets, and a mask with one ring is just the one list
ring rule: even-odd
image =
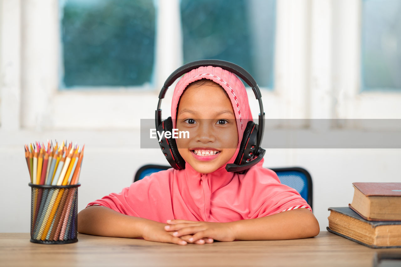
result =
[{"label": "girl's lower hand, partly covered by her other hand", "polygon": [[207,239],[206,241],[204,239],[196,239],[194,241],[190,241],[189,239],[192,237],[192,235],[183,235],[180,237],[176,237],[173,235],[173,232],[166,232],[164,230],[164,226],[166,226],[166,224],[164,223],[147,221],[142,231],[142,238],[148,241],[174,243],[178,245],[186,245],[187,243],[213,243],[213,239]]}]

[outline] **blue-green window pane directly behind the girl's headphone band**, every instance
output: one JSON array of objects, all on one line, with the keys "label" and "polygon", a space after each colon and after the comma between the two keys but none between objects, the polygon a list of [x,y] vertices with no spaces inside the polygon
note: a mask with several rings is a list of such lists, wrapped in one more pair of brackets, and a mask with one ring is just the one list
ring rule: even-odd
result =
[{"label": "blue-green window pane directly behind the girl's headphone band", "polygon": [[184,63],[231,61],[273,87],[275,0],[181,0]]}]

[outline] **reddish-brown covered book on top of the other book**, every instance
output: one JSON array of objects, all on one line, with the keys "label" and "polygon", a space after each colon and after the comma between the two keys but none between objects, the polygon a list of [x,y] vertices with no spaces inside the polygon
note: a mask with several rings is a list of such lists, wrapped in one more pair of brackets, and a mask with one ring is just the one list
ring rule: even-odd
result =
[{"label": "reddish-brown covered book on top of the other book", "polygon": [[366,220],[401,220],[401,183],[353,183],[348,206]]}]

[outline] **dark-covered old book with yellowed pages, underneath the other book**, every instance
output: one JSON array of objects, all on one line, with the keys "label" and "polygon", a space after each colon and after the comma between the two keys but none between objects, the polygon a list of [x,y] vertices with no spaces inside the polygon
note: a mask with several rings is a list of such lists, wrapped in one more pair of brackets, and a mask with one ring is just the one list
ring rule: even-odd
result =
[{"label": "dark-covered old book with yellowed pages, underneath the other book", "polygon": [[401,247],[401,221],[365,220],[348,207],[328,210],[327,231],[368,247]]}]

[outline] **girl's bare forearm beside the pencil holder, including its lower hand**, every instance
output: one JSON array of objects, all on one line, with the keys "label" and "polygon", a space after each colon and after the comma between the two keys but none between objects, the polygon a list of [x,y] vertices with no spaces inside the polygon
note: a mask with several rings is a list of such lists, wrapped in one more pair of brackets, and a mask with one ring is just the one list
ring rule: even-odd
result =
[{"label": "girl's bare forearm beside the pencil holder, including its lower hand", "polygon": [[167,224],[154,220],[119,213],[104,206],[89,206],[78,213],[78,232],[106,237],[142,237],[145,240],[186,245],[189,243],[211,243],[213,240],[196,239],[189,241],[191,235],[174,237],[164,231]]}]

